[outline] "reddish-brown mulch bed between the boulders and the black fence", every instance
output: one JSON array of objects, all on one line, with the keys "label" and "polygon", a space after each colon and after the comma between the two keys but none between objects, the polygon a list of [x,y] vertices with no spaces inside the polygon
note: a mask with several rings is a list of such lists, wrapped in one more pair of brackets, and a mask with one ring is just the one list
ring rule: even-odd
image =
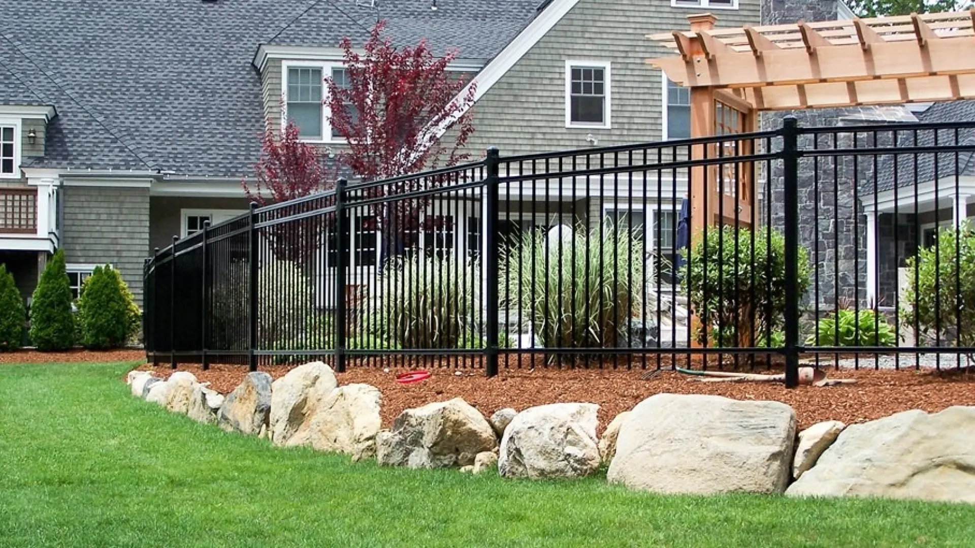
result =
[{"label": "reddish-brown mulch bed between the boulders and the black fence", "polygon": [[[293,366],[261,368],[278,378]],[[152,369],[148,365],[140,369]],[[212,366],[204,372],[199,366],[180,366],[201,381],[228,393],[240,383],[247,370],[241,366]],[[975,406],[975,373],[917,371],[834,371],[830,378],[855,378],[857,384],[831,387],[802,386],[786,390],[779,383],[700,382],[679,372],[659,372],[644,380],[643,371],[615,370],[502,370],[487,378],[481,370],[433,370],[424,381],[403,385],[397,372],[374,368],[350,369],[338,373],[340,384],[364,382],[382,391],[382,419],[388,426],[403,410],[431,402],[462,397],[486,415],[502,408],[518,411],[531,406],[560,402],[590,402],[600,405],[600,424],[604,427],[617,413],[632,409],[643,399],[658,393],[713,394],[737,400],[775,400],[796,410],[800,428],[822,420],[842,420],[847,424],[874,420],[898,411],[919,409],[941,411],[951,406]],[[156,368],[168,376],[169,368]]]}]

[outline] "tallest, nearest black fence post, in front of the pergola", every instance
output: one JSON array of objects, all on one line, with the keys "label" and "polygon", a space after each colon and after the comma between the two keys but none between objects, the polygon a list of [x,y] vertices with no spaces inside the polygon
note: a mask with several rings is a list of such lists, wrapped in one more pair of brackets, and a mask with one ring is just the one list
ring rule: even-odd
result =
[{"label": "tallest, nearest black fence post, in front of the pergola", "polygon": [[782,125],[783,209],[785,232],[786,388],[799,386],[799,122],[788,116]]}]

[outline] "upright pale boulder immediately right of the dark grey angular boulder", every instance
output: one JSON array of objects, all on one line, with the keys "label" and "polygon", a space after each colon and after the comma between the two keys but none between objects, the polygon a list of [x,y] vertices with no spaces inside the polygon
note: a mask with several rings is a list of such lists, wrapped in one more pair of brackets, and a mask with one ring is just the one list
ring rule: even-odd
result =
[{"label": "upright pale boulder immediately right of the dark grey angular boulder", "polygon": [[308,422],[338,382],[322,362],[298,366],[271,387],[268,430],[278,446],[302,446],[309,442]]}]

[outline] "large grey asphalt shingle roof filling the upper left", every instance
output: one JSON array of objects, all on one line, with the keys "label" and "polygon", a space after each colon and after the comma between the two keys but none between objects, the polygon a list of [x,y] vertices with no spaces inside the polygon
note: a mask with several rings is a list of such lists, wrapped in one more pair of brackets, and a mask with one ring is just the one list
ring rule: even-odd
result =
[{"label": "large grey asphalt shingle roof filling the upper left", "polygon": [[[360,4],[363,2],[360,0]],[[0,0],[0,104],[52,104],[49,168],[243,176],[264,125],[260,44],[395,42],[490,59],[537,0]]]}]

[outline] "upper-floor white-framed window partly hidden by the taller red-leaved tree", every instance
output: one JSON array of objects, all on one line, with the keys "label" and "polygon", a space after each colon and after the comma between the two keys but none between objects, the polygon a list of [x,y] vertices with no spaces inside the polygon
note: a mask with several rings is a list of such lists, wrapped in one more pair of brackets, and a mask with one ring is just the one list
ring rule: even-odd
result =
[{"label": "upper-floor white-framed window partly hidden by the taller red-leaved tree", "polygon": [[[342,64],[336,61],[284,61],[281,71],[282,122],[293,122],[301,140],[345,141],[345,137],[331,127],[329,86],[326,84],[326,78],[331,78],[339,88],[349,85]],[[351,109],[352,105],[347,104],[346,108]]]}]

